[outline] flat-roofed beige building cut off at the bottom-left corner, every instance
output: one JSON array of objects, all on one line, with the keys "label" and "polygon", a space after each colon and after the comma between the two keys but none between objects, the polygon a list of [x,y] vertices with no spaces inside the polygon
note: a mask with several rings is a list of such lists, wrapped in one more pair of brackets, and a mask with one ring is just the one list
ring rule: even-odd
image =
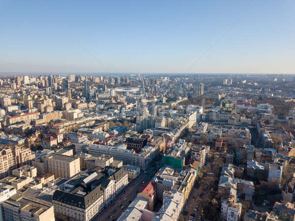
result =
[{"label": "flat-roofed beige building cut off at the bottom-left corner", "polygon": [[31,201],[19,194],[2,202],[3,221],[55,221],[53,206]]}]

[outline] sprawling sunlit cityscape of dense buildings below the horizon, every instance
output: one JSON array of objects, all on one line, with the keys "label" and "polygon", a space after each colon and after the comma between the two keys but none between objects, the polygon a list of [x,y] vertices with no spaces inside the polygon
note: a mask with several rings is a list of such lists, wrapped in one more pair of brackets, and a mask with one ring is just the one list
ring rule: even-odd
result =
[{"label": "sprawling sunlit cityscape of dense buildings below the horizon", "polygon": [[293,221],[294,75],[0,80],[3,221]]}]

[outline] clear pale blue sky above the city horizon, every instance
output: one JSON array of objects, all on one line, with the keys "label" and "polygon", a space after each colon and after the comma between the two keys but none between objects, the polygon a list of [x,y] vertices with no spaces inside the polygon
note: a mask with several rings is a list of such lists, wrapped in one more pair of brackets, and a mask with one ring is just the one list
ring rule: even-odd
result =
[{"label": "clear pale blue sky above the city horizon", "polygon": [[4,73],[295,73],[294,0],[0,0]]}]

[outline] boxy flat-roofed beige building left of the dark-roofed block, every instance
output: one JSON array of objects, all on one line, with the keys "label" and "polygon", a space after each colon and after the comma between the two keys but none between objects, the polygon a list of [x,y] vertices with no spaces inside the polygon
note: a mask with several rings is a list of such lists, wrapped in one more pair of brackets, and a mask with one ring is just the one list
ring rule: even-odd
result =
[{"label": "boxy flat-roofed beige building left of the dark-roofed block", "polygon": [[80,159],[61,154],[48,154],[35,159],[32,164],[37,167],[38,175],[53,173],[55,178],[69,179],[80,172]]}]

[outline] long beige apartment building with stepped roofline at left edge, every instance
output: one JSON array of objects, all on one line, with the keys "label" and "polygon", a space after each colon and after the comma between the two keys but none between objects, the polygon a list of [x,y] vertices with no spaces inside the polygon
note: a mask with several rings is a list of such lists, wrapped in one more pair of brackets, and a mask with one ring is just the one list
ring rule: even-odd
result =
[{"label": "long beige apartment building with stepped roofline at left edge", "polygon": [[7,177],[12,171],[22,165],[30,164],[35,154],[25,147],[0,148],[0,178]]}]

